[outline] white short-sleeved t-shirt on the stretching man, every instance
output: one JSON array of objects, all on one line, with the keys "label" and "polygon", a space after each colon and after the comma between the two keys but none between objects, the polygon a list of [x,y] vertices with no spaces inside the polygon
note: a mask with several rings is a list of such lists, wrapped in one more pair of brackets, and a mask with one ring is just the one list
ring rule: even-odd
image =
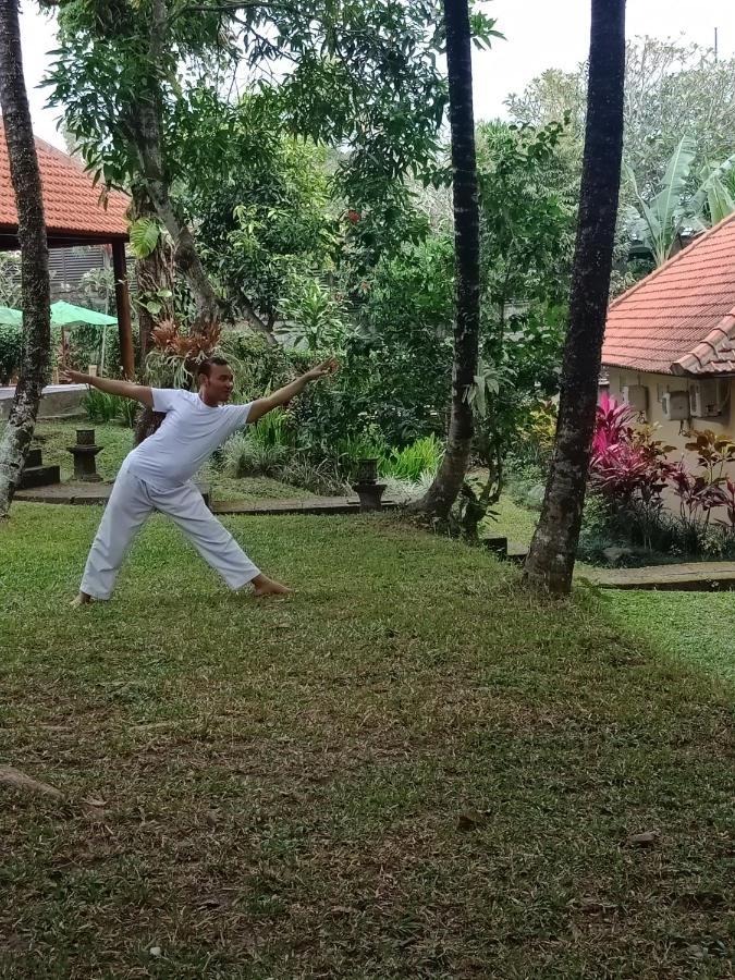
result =
[{"label": "white short-sleeved t-shirt on the stretching man", "polygon": [[177,388],[154,388],[154,411],[166,412],[160,428],[128,454],[127,468],[159,490],[189,480],[218,445],[247,422],[247,405],[210,408],[198,394]]}]

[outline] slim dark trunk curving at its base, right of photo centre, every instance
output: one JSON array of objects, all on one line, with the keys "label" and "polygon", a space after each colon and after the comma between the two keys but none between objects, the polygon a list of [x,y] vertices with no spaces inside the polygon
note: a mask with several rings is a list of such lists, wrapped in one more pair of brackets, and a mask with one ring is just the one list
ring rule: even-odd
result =
[{"label": "slim dark trunk curving at its base, right of photo centre", "polygon": [[455,315],[452,415],[442,464],[418,510],[446,518],[467,470],[473,441],[468,393],[477,373],[480,332],[480,221],[473,112],[471,35],[467,0],[443,0],[452,125]]}]

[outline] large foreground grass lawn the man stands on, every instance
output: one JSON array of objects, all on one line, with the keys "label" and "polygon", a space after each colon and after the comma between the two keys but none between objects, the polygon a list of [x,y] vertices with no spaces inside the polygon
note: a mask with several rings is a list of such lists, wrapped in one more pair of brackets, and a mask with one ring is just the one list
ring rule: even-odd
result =
[{"label": "large foreground grass lawn the man stands on", "polygon": [[709,647],[388,517],[229,519],[265,604],[154,518],[75,612],[98,518],[0,526],[0,755],[63,794],[0,784],[0,976],[733,976]]}]

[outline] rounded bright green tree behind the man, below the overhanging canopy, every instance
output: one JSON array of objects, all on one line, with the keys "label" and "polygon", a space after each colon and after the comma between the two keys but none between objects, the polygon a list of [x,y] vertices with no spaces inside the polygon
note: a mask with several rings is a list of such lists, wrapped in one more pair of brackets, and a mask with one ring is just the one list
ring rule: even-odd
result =
[{"label": "rounded bright green tree behind the man, below the overhanging canopy", "polygon": [[253,309],[269,327],[282,319],[280,299],[289,280],[329,271],[336,243],[326,150],[280,135],[273,101],[267,94],[248,95],[229,107],[201,94],[198,111],[213,119],[189,120],[186,138],[197,143],[203,131],[231,128],[229,166],[216,183],[209,169],[187,171],[182,194],[230,316],[243,318]]}]

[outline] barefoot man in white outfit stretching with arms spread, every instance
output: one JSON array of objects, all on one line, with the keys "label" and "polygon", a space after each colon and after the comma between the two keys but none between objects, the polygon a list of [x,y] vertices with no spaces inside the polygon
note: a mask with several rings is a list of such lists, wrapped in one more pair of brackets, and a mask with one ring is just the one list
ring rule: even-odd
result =
[{"label": "barefoot man in white outfit stretching with arms spread", "polygon": [[66,371],[71,381],[136,399],[155,412],[166,413],[160,428],[128,453],[120,467],[74,604],[110,598],[125,553],[154,511],[168,514],[179,525],[231,589],[241,589],[249,583],[258,597],[289,592],[253,564],[207,507],[192,477],[236,429],[285,405],[310,381],[332,373],[335,368],[333,359],[326,360],[272,395],[247,405],[226,404],[234,379],[232,369],[221,357],[210,357],[199,366],[196,393]]}]

